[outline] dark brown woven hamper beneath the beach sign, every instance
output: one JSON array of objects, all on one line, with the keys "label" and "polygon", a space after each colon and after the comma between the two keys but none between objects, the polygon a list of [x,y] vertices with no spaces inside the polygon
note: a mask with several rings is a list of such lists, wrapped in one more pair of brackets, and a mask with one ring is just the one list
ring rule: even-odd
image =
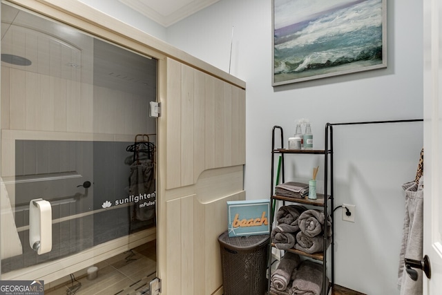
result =
[{"label": "dark brown woven hamper beneath the beach sign", "polygon": [[267,292],[269,235],[218,237],[224,295],[262,295]]}]

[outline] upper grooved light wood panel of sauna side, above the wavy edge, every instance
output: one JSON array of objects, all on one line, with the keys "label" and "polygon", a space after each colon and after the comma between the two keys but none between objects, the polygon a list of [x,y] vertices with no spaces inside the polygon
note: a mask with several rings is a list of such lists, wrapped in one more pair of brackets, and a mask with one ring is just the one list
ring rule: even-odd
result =
[{"label": "upper grooved light wood panel of sauna side, above the wavy edge", "polygon": [[195,184],[204,169],[245,164],[243,90],[173,59],[167,72],[166,189]]}]

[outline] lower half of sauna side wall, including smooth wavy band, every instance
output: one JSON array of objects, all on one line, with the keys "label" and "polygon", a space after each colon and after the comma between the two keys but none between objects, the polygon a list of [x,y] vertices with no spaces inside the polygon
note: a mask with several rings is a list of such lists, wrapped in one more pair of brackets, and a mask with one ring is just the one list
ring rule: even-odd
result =
[{"label": "lower half of sauna side wall, including smooth wavy band", "polygon": [[166,226],[160,225],[159,238],[166,236],[161,244],[167,245],[168,253],[161,257],[165,294],[212,294],[221,287],[218,236],[227,230],[226,202],[244,200],[242,189],[243,168],[239,165],[206,170],[196,184],[164,192]]}]

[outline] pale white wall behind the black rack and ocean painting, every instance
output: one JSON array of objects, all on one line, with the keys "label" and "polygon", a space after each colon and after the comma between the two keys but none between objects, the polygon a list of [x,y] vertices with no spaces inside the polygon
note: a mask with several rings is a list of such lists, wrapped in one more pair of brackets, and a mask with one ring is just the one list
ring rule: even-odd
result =
[{"label": "pale white wall behind the black rack and ocean painting", "polygon": [[[98,7],[99,1],[82,1],[96,2]],[[269,198],[274,125],[282,126],[287,140],[295,131],[295,120],[309,118],[314,147],[322,149],[327,122],[423,117],[422,4],[387,2],[387,69],[275,88],[271,86],[271,1],[221,0],[166,29],[165,41],[228,72],[234,27],[230,73],[247,82],[248,199]],[[119,12],[112,13],[130,20],[126,12]],[[133,25],[157,34],[156,28]],[[356,205],[354,223],[340,220],[341,209],[335,215],[338,285],[365,294],[399,293],[401,184],[414,180],[422,146],[421,122],[334,127],[335,207],[343,202]],[[317,164],[320,173],[324,171],[319,157],[293,159],[287,160],[286,181],[308,180]]]}]

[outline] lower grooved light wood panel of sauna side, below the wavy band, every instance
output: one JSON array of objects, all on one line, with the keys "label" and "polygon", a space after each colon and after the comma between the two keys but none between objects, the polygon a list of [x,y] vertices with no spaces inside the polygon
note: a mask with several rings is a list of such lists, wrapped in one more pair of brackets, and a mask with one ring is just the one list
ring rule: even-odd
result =
[{"label": "lower grooved light wood panel of sauna side, below the wavy band", "polygon": [[200,198],[195,194],[166,202],[164,294],[212,294],[222,286],[218,236],[227,230],[226,202],[244,200],[245,193],[239,191],[206,204]]}]

